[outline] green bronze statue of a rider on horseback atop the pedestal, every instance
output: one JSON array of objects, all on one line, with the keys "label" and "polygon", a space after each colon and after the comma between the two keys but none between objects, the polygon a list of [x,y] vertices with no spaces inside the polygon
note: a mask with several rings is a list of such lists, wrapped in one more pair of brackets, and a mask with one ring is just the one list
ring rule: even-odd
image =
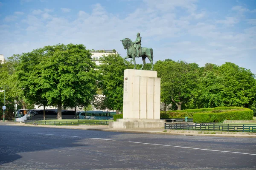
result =
[{"label": "green bronze statue of a rider on horseback atop the pedestal", "polygon": [[[142,57],[143,60],[143,65],[140,68],[140,70],[143,69],[145,65],[145,59],[148,57],[149,61],[151,62],[151,70],[153,70],[154,65],[153,65],[153,49],[152,48],[146,48],[146,47],[141,47],[141,37],[140,33],[137,33],[137,38],[134,42],[132,42],[129,38],[125,38],[122,41],[122,45],[124,46],[125,50],[127,49],[127,56],[124,57],[124,64],[125,59],[132,58],[134,62],[134,69],[136,69],[136,61],[135,57]],[[134,47],[134,48],[131,48]],[[137,53],[137,54],[136,54]]]}]

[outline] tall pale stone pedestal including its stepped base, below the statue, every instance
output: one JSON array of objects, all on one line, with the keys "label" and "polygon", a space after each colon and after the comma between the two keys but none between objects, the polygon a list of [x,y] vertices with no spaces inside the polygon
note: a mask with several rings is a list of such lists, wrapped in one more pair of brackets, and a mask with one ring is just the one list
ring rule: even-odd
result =
[{"label": "tall pale stone pedestal including its stepped base, below the statue", "polygon": [[164,121],[160,120],[160,78],[157,78],[157,71],[124,71],[123,119],[110,122],[109,127],[164,127]]}]

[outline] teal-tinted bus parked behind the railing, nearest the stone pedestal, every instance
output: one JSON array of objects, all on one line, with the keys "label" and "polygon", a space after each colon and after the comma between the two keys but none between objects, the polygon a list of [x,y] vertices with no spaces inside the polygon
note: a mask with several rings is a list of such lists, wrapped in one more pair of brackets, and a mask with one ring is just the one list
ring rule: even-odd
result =
[{"label": "teal-tinted bus parked behind the railing, nearest the stone pedestal", "polygon": [[77,112],[78,119],[96,119],[96,120],[108,120],[113,119],[113,115],[116,112],[107,111],[81,111]]}]

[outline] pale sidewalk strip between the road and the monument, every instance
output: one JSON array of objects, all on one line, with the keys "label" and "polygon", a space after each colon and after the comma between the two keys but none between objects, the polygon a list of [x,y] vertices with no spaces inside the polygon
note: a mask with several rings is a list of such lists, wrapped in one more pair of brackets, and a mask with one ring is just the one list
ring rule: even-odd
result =
[{"label": "pale sidewalk strip between the road and the monument", "polygon": [[5,122],[0,125],[11,126],[33,126],[33,127],[49,127],[49,128],[65,128],[65,129],[80,129],[80,130],[100,130],[109,132],[123,133],[146,133],[146,134],[161,134],[161,135],[180,135],[180,136],[209,136],[209,137],[235,137],[235,138],[256,138],[256,133],[245,132],[218,132],[218,131],[198,131],[198,130],[170,130],[164,128],[144,128],[144,129],[119,129],[108,128],[106,125],[70,125],[70,126],[54,126],[54,125],[25,125],[24,123]]}]

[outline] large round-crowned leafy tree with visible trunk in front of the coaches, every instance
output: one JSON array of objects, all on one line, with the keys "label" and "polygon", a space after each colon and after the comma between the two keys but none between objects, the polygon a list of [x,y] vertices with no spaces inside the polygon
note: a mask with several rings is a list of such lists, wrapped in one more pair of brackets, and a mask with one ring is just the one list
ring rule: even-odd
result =
[{"label": "large round-crowned leafy tree with visible trunk in front of the coaches", "polygon": [[24,93],[41,105],[84,106],[96,94],[96,65],[84,45],[53,45],[23,54],[19,79]]}]

